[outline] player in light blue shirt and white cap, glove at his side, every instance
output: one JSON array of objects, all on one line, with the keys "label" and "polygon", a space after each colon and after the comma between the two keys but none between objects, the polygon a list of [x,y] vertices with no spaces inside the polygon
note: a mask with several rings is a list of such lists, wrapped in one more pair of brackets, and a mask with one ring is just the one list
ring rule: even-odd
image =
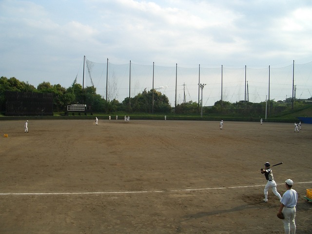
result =
[{"label": "player in light blue shirt and white cap, glove at his side", "polygon": [[282,219],[284,224],[285,234],[295,234],[296,224],[294,218],[296,217],[296,205],[298,201],[298,194],[292,189],[293,182],[291,179],[285,181],[287,191],[283,194],[281,205],[278,213],[283,212],[285,219]]}]

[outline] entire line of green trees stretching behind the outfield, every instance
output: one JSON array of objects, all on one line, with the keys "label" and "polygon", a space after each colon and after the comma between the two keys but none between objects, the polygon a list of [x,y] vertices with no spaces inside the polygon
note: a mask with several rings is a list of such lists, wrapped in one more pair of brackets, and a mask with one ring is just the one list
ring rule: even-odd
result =
[{"label": "entire line of green trees stretching behind the outfield", "polygon": [[[144,89],[142,93],[138,93],[135,97],[127,97],[119,102],[117,99],[105,100],[97,94],[94,86],[82,88],[75,79],[68,88],[62,87],[60,84],[50,84],[50,82],[42,82],[37,88],[28,82],[20,81],[17,78],[0,78],[0,111],[5,111],[5,91],[13,92],[29,92],[29,93],[52,93],[54,112],[66,112],[67,105],[86,104],[92,108],[92,112],[112,113],[126,111],[128,113],[171,113],[176,114],[198,114],[200,113],[200,103],[193,101],[177,104],[175,108],[171,107],[169,99],[161,92],[154,90],[147,91]],[[154,97],[154,102],[153,102]],[[311,100],[309,98],[308,100]],[[300,101],[295,101],[296,106],[304,105]],[[223,114],[223,115],[243,115],[255,116],[263,115],[268,108],[269,114],[279,114],[290,108],[290,103],[269,100],[268,102],[245,102],[238,101],[231,103],[228,101],[216,101],[212,107],[203,107],[203,114]]]}]

